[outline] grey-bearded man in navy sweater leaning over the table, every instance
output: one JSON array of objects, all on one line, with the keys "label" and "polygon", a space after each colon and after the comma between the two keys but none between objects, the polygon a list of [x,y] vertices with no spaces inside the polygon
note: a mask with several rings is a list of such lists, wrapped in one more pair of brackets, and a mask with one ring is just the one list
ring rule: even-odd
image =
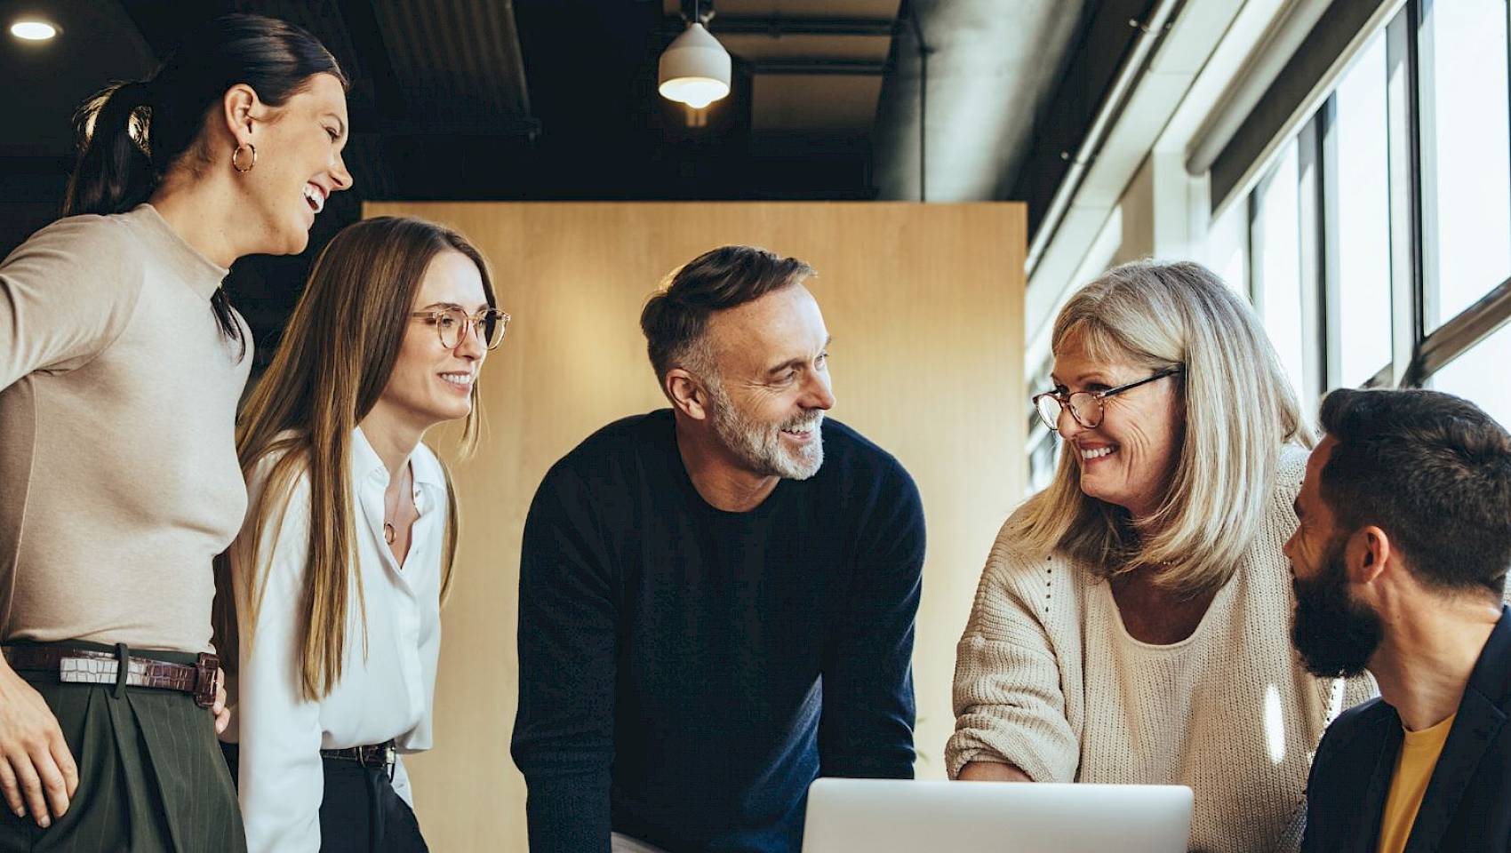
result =
[{"label": "grey-bearded man in navy sweater leaning over the table", "polygon": [[713,249],[641,329],[669,409],[547,474],[520,560],[535,853],[801,847],[817,776],[913,778],[923,507],[825,418],[813,269]]}]

